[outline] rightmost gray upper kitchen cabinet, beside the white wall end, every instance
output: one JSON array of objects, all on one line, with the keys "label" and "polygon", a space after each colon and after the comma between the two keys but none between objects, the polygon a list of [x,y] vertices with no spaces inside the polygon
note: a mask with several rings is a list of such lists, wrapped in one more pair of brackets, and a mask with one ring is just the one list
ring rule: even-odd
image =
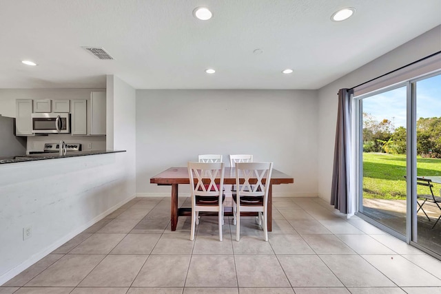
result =
[{"label": "rightmost gray upper kitchen cabinet, beside the white wall end", "polygon": [[105,92],[90,94],[90,134],[105,135]]}]

